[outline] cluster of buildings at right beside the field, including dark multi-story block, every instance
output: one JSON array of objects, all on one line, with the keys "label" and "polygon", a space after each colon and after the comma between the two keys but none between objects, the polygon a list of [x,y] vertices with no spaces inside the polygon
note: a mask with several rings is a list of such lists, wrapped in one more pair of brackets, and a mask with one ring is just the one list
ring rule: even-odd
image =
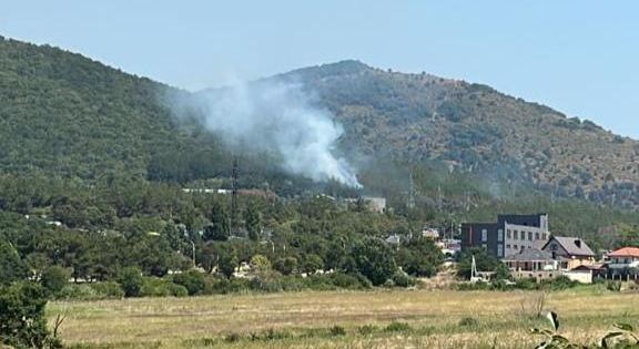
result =
[{"label": "cluster of buildings at right beside the field, including dark multi-story block", "polygon": [[[515,279],[565,276],[581,284],[639,279],[639,246],[597,254],[579,237],[552,234],[548,219],[547,214],[499,215],[496,223],[463,224],[462,250],[486,249],[508,266]],[[488,280],[493,275],[477,270],[474,277]]]}]

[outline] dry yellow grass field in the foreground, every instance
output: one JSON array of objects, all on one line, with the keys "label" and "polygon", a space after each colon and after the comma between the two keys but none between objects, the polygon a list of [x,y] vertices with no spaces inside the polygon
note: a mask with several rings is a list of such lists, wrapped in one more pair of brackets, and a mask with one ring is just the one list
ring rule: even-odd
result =
[{"label": "dry yellow grass field in the foreground", "polygon": [[[375,290],[52,302],[77,348],[531,348],[539,294]],[[562,332],[588,341],[639,322],[639,295],[549,294]]]}]

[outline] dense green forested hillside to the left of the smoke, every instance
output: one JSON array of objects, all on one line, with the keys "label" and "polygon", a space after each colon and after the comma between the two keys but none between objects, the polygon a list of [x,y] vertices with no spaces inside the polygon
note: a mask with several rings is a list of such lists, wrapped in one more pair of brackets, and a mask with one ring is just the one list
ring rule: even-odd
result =
[{"label": "dense green forested hillside to the left of the smoke", "polygon": [[[186,92],[77,53],[0,39],[0,172],[83,183],[227,178],[231,153],[197,125],[178,123],[169,93]],[[248,187],[267,182],[292,193],[308,185],[264,154],[243,154],[242,166]]]}]

